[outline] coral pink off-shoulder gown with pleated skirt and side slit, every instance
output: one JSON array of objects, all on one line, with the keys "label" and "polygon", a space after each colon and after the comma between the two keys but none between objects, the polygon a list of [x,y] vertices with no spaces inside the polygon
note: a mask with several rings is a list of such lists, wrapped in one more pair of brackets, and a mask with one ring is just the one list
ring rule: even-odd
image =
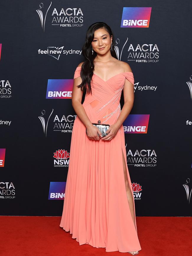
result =
[{"label": "coral pink off-shoulder gown with pleated skirt and side slit", "polygon": [[[77,67],[74,79],[80,76]],[[85,95],[83,107],[92,123],[114,124],[120,115],[120,97],[128,79],[134,85],[132,72],[117,74],[104,81],[92,76],[92,95]],[[110,141],[92,141],[86,127],[77,118],[71,135],[69,169],[60,227],[70,231],[81,244],[106,248],[106,252],[139,251],[137,236],[126,195],[122,151],[126,161],[125,135],[121,125]],[[127,169],[128,183],[131,180]],[[135,215],[135,203],[134,203]],[[136,224],[136,217],[135,217]]]}]

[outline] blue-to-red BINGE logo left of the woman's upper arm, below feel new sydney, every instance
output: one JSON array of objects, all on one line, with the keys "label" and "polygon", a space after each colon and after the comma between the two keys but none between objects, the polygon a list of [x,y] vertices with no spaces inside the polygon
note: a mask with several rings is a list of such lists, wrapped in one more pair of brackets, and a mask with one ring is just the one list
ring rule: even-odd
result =
[{"label": "blue-to-red BINGE logo left of the woman's upper arm, below feel new sydney", "polygon": [[46,99],[71,99],[73,79],[48,79]]}]

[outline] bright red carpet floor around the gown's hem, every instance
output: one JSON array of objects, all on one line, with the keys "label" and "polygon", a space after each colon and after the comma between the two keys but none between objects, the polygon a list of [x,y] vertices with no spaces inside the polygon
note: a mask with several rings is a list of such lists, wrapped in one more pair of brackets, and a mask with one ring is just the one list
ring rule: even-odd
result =
[{"label": "bright red carpet floor around the gown's hem", "polygon": [[[0,216],[0,255],[131,255],[79,245],[69,232],[59,227],[60,220],[61,217]],[[136,221],[140,256],[191,255],[191,217],[136,217]]]}]

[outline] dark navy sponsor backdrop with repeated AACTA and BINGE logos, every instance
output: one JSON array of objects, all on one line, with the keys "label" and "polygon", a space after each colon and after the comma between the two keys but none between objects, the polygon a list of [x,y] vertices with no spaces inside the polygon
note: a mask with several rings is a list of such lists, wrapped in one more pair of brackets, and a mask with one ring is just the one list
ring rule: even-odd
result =
[{"label": "dark navy sponsor backdrop with repeated AACTA and BINGE logos", "polygon": [[191,7],[178,0],[1,2],[0,215],[61,216],[77,117],[74,71],[88,27],[102,21],[135,79],[123,126],[136,216],[191,216]]}]

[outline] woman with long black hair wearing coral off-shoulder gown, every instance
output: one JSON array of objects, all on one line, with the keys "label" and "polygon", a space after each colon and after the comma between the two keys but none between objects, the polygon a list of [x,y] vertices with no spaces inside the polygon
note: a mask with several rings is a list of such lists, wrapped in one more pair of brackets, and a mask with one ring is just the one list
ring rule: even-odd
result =
[{"label": "woman with long black hair wearing coral off-shoulder gown", "polygon": [[[136,255],[141,246],[123,131],[133,107],[134,76],[130,66],[117,59],[113,32],[104,22],[89,27],[82,54],[86,60],[74,73],[72,105],[77,118],[60,227],[79,245]],[[98,120],[110,125],[105,137],[92,124]]]}]

